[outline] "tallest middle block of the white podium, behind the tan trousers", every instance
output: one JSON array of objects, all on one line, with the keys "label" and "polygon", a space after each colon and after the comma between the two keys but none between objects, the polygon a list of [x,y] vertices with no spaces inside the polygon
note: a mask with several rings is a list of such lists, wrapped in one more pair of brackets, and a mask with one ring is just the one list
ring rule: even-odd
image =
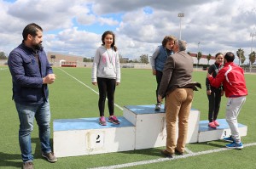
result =
[{"label": "tallest middle block of the white podium, behind the tan trousers", "polygon": [[[149,149],[166,146],[166,113],[164,105],[161,110],[154,110],[152,105],[127,105],[124,117],[136,127],[135,149]],[[187,143],[195,143],[198,138],[200,111],[191,109]],[[178,132],[178,127],[177,127]],[[176,136],[177,136],[176,132]]]}]

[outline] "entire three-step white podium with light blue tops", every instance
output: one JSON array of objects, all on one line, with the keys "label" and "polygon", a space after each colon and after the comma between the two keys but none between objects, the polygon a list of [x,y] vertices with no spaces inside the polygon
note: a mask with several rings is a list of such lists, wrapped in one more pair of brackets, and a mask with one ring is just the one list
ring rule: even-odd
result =
[{"label": "entire three-step white podium with light blue tops", "polygon": [[[53,121],[54,152],[57,157],[95,155],[102,153],[149,149],[166,146],[166,113],[151,105],[127,105],[119,125],[98,123],[99,118],[59,119]],[[191,109],[187,143],[207,142],[230,136],[230,127],[218,119],[217,129],[200,121],[200,111]],[[241,136],[247,135],[247,126],[239,124]],[[178,127],[177,127],[178,132]],[[177,136],[177,133],[176,133]]]}]

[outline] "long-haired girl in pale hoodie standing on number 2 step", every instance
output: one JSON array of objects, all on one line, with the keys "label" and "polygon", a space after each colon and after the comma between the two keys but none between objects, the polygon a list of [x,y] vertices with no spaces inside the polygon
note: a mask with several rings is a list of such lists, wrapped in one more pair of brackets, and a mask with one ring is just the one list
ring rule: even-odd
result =
[{"label": "long-haired girl in pale hoodie standing on number 2 step", "polygon": [[113,115],[115,86],[120,83],[119,54],[114,42],[115,36],[113,32],[105,31],[102,34],[102,46],[96,49],[92,65],[91,81],[93,85],[98,85],[99,88],[99,124],[102,126],[107,125],[104,117],[106,96],[108,97],[108,121],[113,124],[119,124],[119,120]]}]

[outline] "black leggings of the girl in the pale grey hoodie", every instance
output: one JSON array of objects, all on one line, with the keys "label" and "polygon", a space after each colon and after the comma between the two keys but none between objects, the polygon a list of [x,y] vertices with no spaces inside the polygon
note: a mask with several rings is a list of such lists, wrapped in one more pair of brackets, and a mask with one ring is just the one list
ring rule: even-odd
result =
[{"label": "black leggings of the girl in the pale grey hoodie", "polygon": [[113,108],[114,108],[114,91],[115,91],[115,79],[107,79],[102,77],[97,77],[97,83],[100,93],[100,98],[98,102],[100,115],[104,115],[105,110],[105,100],[106,94],[108,94],[108,110],[109,115],[113,115]]}]

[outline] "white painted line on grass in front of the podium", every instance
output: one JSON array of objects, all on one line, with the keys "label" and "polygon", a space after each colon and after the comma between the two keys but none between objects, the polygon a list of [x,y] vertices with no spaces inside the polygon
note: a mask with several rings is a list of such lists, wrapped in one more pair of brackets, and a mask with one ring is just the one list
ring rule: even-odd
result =
[{"label": "white painted line on grass in front of the podium", "polygon": [[[252,144],[243,144],[243,147],[249,147],[249,146],[255,146],[256,143]],[[201,151],[197,153],[189,153],[186,155],[177,155],[173,156],[173,158],[159,158],[151,161],[137,161],[137,162],[131,162],[131,163],[126,163],[126,164],[120,164],[120,165],[113,165],[113,166],[100,166],[100,167],[95,167],[95,168],[90,168],[90,169],[113,169],[113,168],[123,168],[123,167],[128,167],[128,166],[140,166],[140,165],[146,165],[146,164],[152,164],[152,163],[157,163],[157,162],[162,162],[162,161],[175,161],[178,159],[185,159],[191,156],[196,156],[196,155],[207,155],[207,154],[212,154],[212,153],[217,153],[220,151],[225,151],[225,150],[230,150],[227,148],[220,148],[220,149],[212,149],[212,150],[207,150],[207,151]]]}]

